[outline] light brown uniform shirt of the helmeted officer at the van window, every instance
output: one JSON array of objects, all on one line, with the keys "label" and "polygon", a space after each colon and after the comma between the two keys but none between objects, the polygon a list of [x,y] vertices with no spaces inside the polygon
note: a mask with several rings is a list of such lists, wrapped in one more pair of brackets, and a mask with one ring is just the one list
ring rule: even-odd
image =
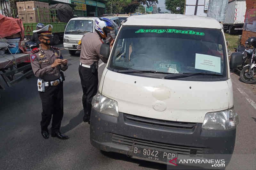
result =
[{"label": "light brown uniform shirt of the helmeted officer at the van window", "polygon": [[86,65],[92,65],[93,62],[97,62],[98,64],[101,59],[103,63],[107,63],[108,59],[100,55],[101,45],[102,41],[98,33],[84,34],[81,40],[80,62]]}]

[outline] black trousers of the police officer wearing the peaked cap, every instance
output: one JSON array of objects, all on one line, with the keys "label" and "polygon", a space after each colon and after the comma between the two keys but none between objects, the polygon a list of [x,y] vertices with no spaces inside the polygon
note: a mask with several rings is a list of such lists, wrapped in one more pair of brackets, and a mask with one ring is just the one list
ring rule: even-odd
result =
[{"label": "black trousers of the police officer wearing the peaked cap", "polygon": [[63,117],[63,82],[57,86],[46,86],[45,92],[39,92],[39,95],[43,106],[41,129],[48,130],[52,119],[51,131],[59,131]]}]

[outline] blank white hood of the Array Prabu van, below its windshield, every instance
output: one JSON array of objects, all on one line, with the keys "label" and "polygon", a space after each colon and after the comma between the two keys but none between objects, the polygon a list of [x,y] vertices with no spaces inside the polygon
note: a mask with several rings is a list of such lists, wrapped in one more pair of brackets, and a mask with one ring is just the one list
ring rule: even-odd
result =
[{"label": "blank white hood of the Array Prabu van, below its windshield", "polygon": [[198,82],[147,78],[108,70],[102,94],[119,112],[154,119],[203,123],[208,112],[229,108],[227,81]]}]

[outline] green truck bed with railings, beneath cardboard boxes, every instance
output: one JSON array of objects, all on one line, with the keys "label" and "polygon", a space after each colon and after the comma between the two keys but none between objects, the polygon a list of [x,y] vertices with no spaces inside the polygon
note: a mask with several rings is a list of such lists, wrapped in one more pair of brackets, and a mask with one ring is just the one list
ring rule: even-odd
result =
[{"label": "green truck bed with railings, beneath cardboard boxes", "polygon": [[[53,26],[52,33],[54,43],[58,44],[59,41],[63,40],[65,27],[67,23],[59,22],[57,18],[56,10],[47,11],[47,9],[37,8],[38,23],[43,23],[45,26],[51,24]],[[49,16],[46,18],[46,16]],[[46,21],[46,22],[45,22]],[[26,38],[30,38],[33,35],[33,30],[36,30],[37,23],[23,23]]]}]

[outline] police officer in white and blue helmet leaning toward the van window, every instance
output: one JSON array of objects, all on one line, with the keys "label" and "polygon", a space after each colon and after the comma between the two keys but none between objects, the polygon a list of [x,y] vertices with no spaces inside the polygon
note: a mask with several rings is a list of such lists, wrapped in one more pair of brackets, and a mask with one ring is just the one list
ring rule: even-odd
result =
[{"label": "police officer in white and blue helmet leaning toward the van window", "polygon": [[[83,107],[84,107],[84,122],[90,123],[92,110],[92,97],[98,91],[98,64],[101,59],[104,63],[108,59],[100,55],[100,47],[103,43],[102,39],[107,38],[108,33],[114,30],[113,23],[107,18],[98,18],[95,20],[95,32],[86,33],[81,39],[77,49],[81,50],[80,65],[78,68],[81,84],[83,88]],[[112,47],[114,40],[110,42]]]}]

